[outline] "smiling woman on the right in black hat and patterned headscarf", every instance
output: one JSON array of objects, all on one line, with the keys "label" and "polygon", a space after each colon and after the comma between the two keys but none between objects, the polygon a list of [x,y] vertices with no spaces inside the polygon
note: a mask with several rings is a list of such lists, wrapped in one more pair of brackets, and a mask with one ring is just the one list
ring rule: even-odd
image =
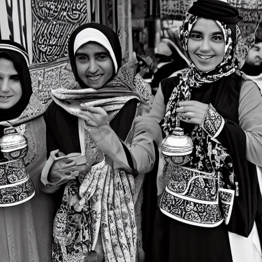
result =
[{"label": "smiling woman on the right in black hat and patterned headscarf", "polygon": [[149,113],[174,137],[161,144],[148,261],[261,261],[262,98],[238,71],[238,12],[199,0],[188,13],[180,37],[190,67],[161,81]]}]

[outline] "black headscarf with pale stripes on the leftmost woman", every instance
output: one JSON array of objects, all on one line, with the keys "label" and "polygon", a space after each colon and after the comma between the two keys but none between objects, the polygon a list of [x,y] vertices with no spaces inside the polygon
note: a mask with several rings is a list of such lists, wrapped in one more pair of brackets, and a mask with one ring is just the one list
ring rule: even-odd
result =
[{"label": "black headscarf with pale stripes on the leftmost woman", "polygon": [[22,96],[11,108],[0,109],[0,121],[17,118],[23,113],[33,93],[31,77],[28,68],[28,55],[23,46],[12,40],[0,40],[0,58],[6,58],[13,62],[21,83]]}]

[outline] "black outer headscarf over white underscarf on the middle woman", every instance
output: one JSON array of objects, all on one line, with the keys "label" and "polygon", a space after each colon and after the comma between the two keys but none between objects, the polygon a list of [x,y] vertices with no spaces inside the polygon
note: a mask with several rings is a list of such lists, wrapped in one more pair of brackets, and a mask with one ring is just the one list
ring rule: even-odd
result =
[{"label": "black outer headscarf over white underscarf on the middle woman", "polygon": [[[117,65],[118,65],[118,70],[121,67],[121,63],[122,63],[122,51],[121,51],[120,41],[119,41],[117,34],[110,27],[100,25],[97,23],[84,24],[78,27],[77,29],[75,29],[75,31],[73,31],[73,33],[71,34],[69,38],[68,53],[69,53],[70,63],[71,63],[71,67],[72,67],[72,71],[74,73],[75,79],[82,88],[89,88],[89,86],[87,86],[78,76],[76,62],[75,62],[75,54],[74,54],[74,43],[75,43],[77,34],[86,28],[94,28],[100,31],[101,33],[103,33],[105,37],[108,39],[108,41],[110,42],[110,45],[114,51]],[[101,45],[101,42],[98,42],[98,43]],[[108,80],[108,82],[111,81],[116,76],[117,72],[114,70],[113,76],[111,77],[110,80]]]}]

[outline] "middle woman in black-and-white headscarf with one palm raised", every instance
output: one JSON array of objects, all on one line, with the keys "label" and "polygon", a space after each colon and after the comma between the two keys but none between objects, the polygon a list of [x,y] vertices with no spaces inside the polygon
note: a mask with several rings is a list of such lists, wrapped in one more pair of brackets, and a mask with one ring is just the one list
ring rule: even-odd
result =
[{"label": "middle woman in black-and-white headscarf with one palm raised", "polygon": [[151,137],[161,130],[148,130],[155,121],[148,119],[134,134],[143,99],[118,76],[122,54],[113,30],[80,26],[70,36],[69,58],[78,85],[52,90],[45,114],[50,158],[42,182],[47,192],[67,183],[54,221],[53,261],[135,262],[142,174],[154,164]]}]

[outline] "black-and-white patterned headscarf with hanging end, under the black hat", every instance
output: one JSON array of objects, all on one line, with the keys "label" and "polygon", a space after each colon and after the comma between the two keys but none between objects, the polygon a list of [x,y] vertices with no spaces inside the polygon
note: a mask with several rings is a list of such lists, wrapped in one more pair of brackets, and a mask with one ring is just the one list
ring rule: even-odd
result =
[{"label": "black-and-white patterned headscarf with hanging end, under the black hat", "polygon": [[196,15],[188,14],[180,32],[180,39],[189,57],[190,67],[183,72],[179,85],[174,88],[167,103],[164,124],[166,134],[170,134],[173,128],[179,125],[176,108],[180,100],[190,100],[192,88],[200,88],[204,83],[212,83],[224,76],[229,76],[238,68],[239,61],[236,49],[238,41],[241,39],[241,32],[236,25],[229,26],[220,21],[216,21],[216,23],[221,27],[225,39],[225,53],[222,62],[208,72],[202,72],[195,67],[188,54],[187,43],[198,18]]}]

